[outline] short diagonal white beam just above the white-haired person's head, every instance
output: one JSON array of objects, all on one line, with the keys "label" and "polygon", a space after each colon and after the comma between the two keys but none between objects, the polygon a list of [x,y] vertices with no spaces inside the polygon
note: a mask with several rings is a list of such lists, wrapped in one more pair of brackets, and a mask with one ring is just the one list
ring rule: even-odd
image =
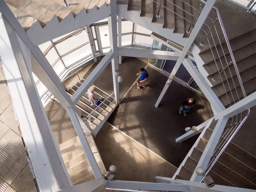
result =
[{"label": "short diagonal white beam just above the white-haired person's head", "polygon": [[99,62],[97,67],[90,73],[90,75],[84,80],[81,86],[76,90],[76,92],[71,97],[74,103],[77,103],[88,88],[93,84],[93,82],[99,77],[103,70],[108,66],[108,64],[113,59],[113,52],[110,50],[107,55]]}]

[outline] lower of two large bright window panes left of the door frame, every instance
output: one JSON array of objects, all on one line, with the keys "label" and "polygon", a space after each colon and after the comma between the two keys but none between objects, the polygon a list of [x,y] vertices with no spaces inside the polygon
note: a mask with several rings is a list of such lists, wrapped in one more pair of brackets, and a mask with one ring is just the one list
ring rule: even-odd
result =
[{"label": "lower of two large bright window panes left of the door frame", "polygon": [[73,63],[75,63],[76,61],[79,61],[80,59],[90,55],[91,49],[90,49],[90,44],[87,44],[79,49],[77,49],[76,51],[71,52],[70,54],[64,56],[62,59],[64,61],[64,64],[66,65],[66,67],[72,65]]}]

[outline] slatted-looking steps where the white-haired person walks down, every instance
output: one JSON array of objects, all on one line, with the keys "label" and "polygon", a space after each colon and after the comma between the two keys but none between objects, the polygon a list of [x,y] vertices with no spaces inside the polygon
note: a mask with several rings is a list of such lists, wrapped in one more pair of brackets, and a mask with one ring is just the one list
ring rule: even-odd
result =
[{"label": "slatted-looking steps where the white-haired person walks down", "polygon": [[[77,82],[76,84],[73,85],[73,87],[67,90],[67,93],[69,94],[70,97],[76,92],[76,90],[79,88],[79,86],[83,82],[84,82],[84,79],[81,79],[81,81]],[[105,93],[104,91],[100,90],[99,87],[95,87],[94,92],[96,93],[99,100],[102,102],[102,105],[100,105],[100,108],[99,107],[97,108],[97,106],[90,105],[87,92],[79,100],[76,107],[79,109],[79,111],[83,115],[82,119],[89,123],[90,128],[93,130],[93,135],[96,136],[96,134],[99,132],[102,125],[106,122],[108,117],[116,108],[116,104],[112,102],[113,99],[111,100],[111,98],[109,98],[108,93]],[[93,111],[95,111],[93,114],[91,114],[91,116],[93,116],[93,120],[88,121],[87,116]]]}]

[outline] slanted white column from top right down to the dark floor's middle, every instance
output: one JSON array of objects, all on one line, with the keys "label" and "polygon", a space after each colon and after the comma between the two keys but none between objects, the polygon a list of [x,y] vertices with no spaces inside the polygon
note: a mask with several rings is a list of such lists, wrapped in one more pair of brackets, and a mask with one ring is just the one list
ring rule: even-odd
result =
[{"label": "slanted white column from top right down to the dark floor's middle", "polygon": [[[204,24],[204,21],[206,20],[207,16],[209,15],[209,12],[212,10],[212,7],[214,6],[216,0],[207,1],[207,3],[204,6],[203,11],[201,12],[201,15],[199,16],[197,22],[195,23],[195,26],[189,36],[188,41],[186,42],[186,45],[184,46],[180,57],[177,60],[177,63],[175,64],[171,75],[175,76],[177,73],[177,70],[179,69],[180,65],[182,64],[184,58],[186,57],[190,47],[192,46],[193,42],[195,41],[196,36],[198,35],[198,32],[200,31],[202,25]],[[171,76],[170,75],[170,76]],[[166,93],[166,90],[169,86],[164,87],[165,90],[162,91],[159,98],[157,99],[157,103],[155,104],[155,107],[158,107],[160,101],[163,99],[164,94]]]}]

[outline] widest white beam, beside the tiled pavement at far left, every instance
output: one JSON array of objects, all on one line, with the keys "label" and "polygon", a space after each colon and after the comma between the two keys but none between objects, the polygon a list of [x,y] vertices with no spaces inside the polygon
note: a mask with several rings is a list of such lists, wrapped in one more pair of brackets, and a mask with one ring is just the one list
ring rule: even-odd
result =
[{"label": "widest white beam, beside the tiled pavement at far left", "polygon": [[49,192],[72,186],[32,77],[30,52],[3,15],[0,28],[3,72],[38,188]]}]

